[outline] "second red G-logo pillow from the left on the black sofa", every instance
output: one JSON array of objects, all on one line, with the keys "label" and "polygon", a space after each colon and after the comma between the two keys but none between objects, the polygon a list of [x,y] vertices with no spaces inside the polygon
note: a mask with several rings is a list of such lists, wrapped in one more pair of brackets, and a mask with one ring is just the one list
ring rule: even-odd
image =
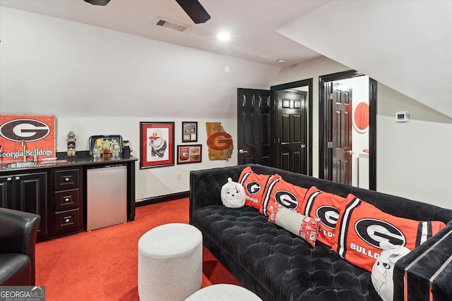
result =
[{"label": "second red G-logo pillow from the left on the black sofa", "polygon": [[265,195],[263,196],[263,203],[261,208],[261,214],[268,216],[278,204],[283,205],[288,209],[302,213],[302,202],[304,195],[306,195],[307,189],[287,183],[283,178],[271,178]]}]

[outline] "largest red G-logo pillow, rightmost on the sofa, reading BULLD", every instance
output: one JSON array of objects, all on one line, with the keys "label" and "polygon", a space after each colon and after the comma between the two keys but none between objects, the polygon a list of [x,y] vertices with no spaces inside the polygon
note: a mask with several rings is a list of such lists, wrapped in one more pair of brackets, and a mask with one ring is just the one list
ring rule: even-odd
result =
[{"label": "largest red G-logo pillow, rightmost on the sofa, reading BULLD", "polygon": [[414,250],[445,226],[441,221],[415,221],[386,214],[351,194],[346,202],[339,214],[333,250],[367,271],[372,270],[382,252],[381,241]]}]

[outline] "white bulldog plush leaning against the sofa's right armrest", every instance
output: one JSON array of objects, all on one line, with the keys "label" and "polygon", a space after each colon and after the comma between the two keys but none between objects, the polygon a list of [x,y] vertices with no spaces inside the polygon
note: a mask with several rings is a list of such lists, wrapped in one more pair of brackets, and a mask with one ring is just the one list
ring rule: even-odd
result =
[{"label": "white bulldog plush leaning against the sofa's right armrest", "polygon": [[383,249],[378,259],[372,266],[371,280],[376,293],[379,293],[383,301],[393,301],[394,295],[394,264],[398,259],[410,252],[407,247],[393,245],[391,242],[382,241],[380,247]]}]

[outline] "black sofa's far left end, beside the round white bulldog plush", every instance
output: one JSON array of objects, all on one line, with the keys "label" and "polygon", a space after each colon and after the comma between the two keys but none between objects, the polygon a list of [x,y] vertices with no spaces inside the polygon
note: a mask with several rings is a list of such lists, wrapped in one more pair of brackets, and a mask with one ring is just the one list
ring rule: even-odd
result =
[{"label": "black sofa's far left end, beside the round white bulldog plush", "polygon": [[221,205],[221,188],[227,178],[234,182],[246,165],[203,169],[190,172],[190,223],[193,211],[208,205]]}]

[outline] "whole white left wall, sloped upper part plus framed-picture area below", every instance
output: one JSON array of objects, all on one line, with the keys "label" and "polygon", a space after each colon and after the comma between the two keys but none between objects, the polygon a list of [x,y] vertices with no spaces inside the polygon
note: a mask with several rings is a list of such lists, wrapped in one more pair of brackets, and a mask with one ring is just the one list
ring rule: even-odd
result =
[{"label": "whole white left wall, sloped upper part plus framed-picture area below", "polygon": [[[207,121],[237,141],[237,87],[268,88],[280,68],[1,6],[0,113],[57,118],[57,152],[91,135],[121,135],[139,157],[140,121],[198,121],[201,163],[140,170],[136,198],[189,190],[189,171],[237,165],[208,159]],[[174,152],[175,153],[175,152]],[[181,172],[182,178],[176,179]]]}]

